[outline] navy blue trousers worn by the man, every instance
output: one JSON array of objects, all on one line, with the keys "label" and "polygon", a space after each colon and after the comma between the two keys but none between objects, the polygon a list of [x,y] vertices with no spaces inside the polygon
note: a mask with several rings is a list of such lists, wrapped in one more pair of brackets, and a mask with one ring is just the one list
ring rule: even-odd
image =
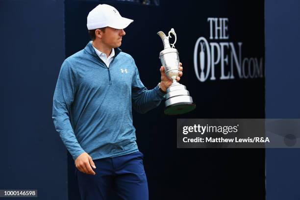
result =
[{"label": "navy blue trousers worn by the man", "polygon": [[115,192],[122,200],[148,200],[148,183],[140,151],[93,160],[96,175],[75,168],[81,200],[108,200]]}]

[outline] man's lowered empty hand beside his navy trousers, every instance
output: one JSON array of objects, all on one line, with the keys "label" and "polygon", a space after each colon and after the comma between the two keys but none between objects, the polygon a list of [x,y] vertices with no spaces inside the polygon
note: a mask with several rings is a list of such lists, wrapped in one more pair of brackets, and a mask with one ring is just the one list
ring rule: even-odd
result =
[{"label": "man's lowered empty hand beside his navy trousers", "polygon": [[82,173],[88,175],[96,175],[92,170],[91,166],[96,169],[95,163],[92,160],[92,157],[86,152],[81,153],[75,160],[75,167]]}]

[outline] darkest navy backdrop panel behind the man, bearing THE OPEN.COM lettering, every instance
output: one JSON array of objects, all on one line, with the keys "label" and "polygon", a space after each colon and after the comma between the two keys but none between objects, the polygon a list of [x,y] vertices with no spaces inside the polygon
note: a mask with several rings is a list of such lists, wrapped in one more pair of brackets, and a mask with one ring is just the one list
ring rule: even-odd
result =
[{"label": "darkest navy backdrop panel behind the man, bearing THE OPEN.COM lettering", "polygon": [[[197,108],[181,116],[163,114],[159,108],[141,115],[134,113],[139,149],[145,154],[150,199],[255,199],[265,194],[265,151],[263,149],[176,149],[177,118],[264,118],[264,76],[200,82],[194,70],[194,48],[199,37],[208,42],[243,43],[242,58],[262,58],[264,72],[264,2],[160,1],[159,6],[112,1],[65,1],[66,57],[89,41],[86,17],[100,2],[110,2],[134,22],[125,28],[121,49],[133,56],[141,80],[149,89],[160,79],[158,59],[163,49],[159,30],[171,27],[177,34],[176,49],[183,63],[180,81],[187,86]],[[213,40],[207,18],[228,18],[227,40]],[[197,52],[199,53],[199,52]],[[227,52],[230,56],[229,51]],[[229,57],[230,58],[230,57]],[[228,66],[227,66],[228,67]],[[226,68],[226,73],[229,68]],[[207,70],[204,69],[204,71]],[[118,98],[118,97],[116,97]],[[69,156],[69,197],[78,199],[74,161]]]}]

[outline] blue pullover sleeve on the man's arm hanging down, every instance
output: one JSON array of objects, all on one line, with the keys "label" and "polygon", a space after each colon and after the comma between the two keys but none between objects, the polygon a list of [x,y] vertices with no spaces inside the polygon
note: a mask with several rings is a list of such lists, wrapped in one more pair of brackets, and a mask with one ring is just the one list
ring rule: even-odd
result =
[{"label": "blue pullover sleeve on the man's arm hanging down", "polygon": [[56,131],[75,160],[85,152],[79,145],[70,121],[70,108],[76,92],[75,71],[65,60],[61,66],[54,95],[52,119]]}]

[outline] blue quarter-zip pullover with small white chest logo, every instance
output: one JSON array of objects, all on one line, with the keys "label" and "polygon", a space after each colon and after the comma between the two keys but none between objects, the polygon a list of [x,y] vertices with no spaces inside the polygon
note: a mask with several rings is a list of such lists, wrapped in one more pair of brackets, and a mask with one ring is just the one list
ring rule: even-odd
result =
[{"label": "blue quarter-zip pullover with small white chest logo", "polygon": [[83,152],[100,159],[138,151],[132,106],[146,113],[164,99],[157,86],[143,85],[129,54],[114,50],[109,68],[90,42],[61,66],[52,118],[74,160]]}]

